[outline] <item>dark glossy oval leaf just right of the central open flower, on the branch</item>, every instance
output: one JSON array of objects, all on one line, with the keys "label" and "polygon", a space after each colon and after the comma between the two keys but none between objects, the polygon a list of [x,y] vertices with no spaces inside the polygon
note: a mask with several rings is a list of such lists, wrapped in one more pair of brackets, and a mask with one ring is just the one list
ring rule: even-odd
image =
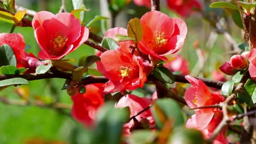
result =
[{"label": "dark glossy oval leaf just right of the central open flower, on the branch", "polygon": [[172,72],[166,67],[157,67],[153,71],[153,75],[157,80],[162,81],[163,83],[174,83],[175,77]]}]

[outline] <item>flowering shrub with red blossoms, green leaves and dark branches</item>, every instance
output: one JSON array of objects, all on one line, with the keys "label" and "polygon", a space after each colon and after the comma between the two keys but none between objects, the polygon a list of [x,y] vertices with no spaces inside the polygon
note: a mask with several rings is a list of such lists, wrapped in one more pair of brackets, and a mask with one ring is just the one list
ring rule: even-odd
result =
[{"label": "flowering shrub with red blossoms, green leaves and dark branches", "polygon": [[[159,0],[133,0],[151,11],[141,15],[140,11],[134,11],[139,18],[134,16],[123,28],[115,25],[121,24],[117,21],[119,13],[131,9],[128,7],[131,0],[107,0],[107,4],[100,1],[101,11],[106,6],[110,16],[93,19],[96,9],[86,5],[91,7],[87,9],[83,0],[62,0],[56,14],[19,11],[22,8],[14,0],[0,1],[0,21],[13,26],[10,34],[0,33],[0,91],[46,79],[31,87],[15,88],[15,96],[4,92],[0,101],[49,108],[72,116],[72,120],[83,126],[69,124],[71,119],[65,121],[67,132],[65,126],[61,133],[65,130],[69,143],[228,144],[237,143],[238,139],[250,143],[255,139],[250,130],[255,129],[252,122],[256,113],[256,4],[249,0],[219,1],[208,8],[208,2],[200,2],[165,1],[172,13],[181,16],[176,18],[167,9],[160,11]],[[198,12],[195,18],[184,19],[195,12]],[[192,27],[200,18],[209,23],[200,22],[201,25]],[[108,19],[111,25],[104,22]],[[99,20],[101,27],[97,27]],[[239,37],[233,40],[229,34],[233,25],[226,27],[233,21],[237,29],[243,30],[244,43],[239,45],[236,43]],[[201,32],[206,25],[210,28]],[[26,33],[22,32],[23,27],[31,27],[35,39],[26,29]],[[21,32],[16,34],[14,30]],[[218,39],[221,34],[225,39]],[[223,45],[216,44],[219,41],[231,46],[219,48]],[[81,45],[87,47],[80,48]],[[60,82],[64,82],[61,90],[67,92],[68,99],[55,87]],[[45,119],[48,120],[48,115]],[[84,129],[86,132],[80,132]],[[2,134],[0,143],[2,137],[5,140]],[[77,140],[80,137],[82,142]],[[27,141],[51,143],[34,138]]]}]

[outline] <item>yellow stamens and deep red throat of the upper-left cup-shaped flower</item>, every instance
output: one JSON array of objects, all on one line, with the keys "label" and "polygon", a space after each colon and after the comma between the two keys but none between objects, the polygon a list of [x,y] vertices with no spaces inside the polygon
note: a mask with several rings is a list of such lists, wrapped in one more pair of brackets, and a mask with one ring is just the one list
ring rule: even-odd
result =
[{"label": "yellow stamens and deep red throat of the upper-left cup-shaped flower", "polygon": [[56,32],[54,37],[51,35],[50,45],[48,46],[48,52],[51,55],[59,56],[66,50],[66,43],[68,38],[61,32]]}]

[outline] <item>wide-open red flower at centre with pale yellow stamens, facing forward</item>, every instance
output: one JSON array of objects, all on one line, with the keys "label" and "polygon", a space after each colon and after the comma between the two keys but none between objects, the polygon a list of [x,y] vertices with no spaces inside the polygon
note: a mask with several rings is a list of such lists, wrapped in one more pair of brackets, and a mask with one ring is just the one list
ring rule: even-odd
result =
[{"label": "wide-open red flower at centre with pale yellow stamens, facing forward", "polygon": [[103,86],[105,93],[142,88],[152,70],[148,62],[141,61],[131,53],[109,50],[102,53],[100,58],[97,69],[109,79]]}]

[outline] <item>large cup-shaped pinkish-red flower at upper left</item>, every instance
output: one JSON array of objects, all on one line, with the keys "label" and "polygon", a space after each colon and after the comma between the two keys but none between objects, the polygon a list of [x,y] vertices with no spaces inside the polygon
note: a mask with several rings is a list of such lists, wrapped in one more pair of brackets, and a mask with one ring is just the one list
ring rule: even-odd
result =
[{"label": "large cup-shaped pinkish-red flower at upper left", "polygon": [[40,59],[62,59],[82,45],[89,36],[89,29],[71,13],[54,15],[48,11],[37,13],[32,21],[35,39],[41,48]]}]

